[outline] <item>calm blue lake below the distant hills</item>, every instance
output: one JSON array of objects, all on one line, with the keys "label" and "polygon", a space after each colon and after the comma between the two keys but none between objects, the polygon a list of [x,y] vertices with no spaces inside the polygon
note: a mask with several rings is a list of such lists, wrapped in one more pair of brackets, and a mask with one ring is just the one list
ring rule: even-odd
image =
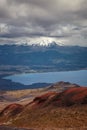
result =
[{"label": "calm blue lake below the distant hills", "polygon": [[87,86],[87,70],[65,71],[65,72],[46,72],[46,73],[27,73],[7,76],[14,82],[31,85],[33,83],[55,83],[65,81]]}]

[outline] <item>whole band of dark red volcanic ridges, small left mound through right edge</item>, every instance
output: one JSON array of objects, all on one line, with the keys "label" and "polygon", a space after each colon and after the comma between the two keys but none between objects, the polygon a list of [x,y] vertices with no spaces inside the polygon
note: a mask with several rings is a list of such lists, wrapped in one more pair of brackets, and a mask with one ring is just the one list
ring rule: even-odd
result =
[{"label": "whole band of dark red volcanic ridges, small left mound through right edge", "polygon": [[68,107],[74,104],[83,105],[87,104],[87,87],[73,87],[63,92],[48,92],[39,97],[34,98],[29,104],[22,106],[20,104],[11,104],[2,110],[0,116],[15,116],[22,112],[26,107],[38,108],[38,107]]}]

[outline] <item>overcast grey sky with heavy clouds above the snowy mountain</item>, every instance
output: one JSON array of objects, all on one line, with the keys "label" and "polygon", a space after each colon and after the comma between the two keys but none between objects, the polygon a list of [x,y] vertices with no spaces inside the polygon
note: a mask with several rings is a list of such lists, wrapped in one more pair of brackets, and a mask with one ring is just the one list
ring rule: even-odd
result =
[{"label": "overcast grey sky with heavy clouds above the snowy mountain", "polygon": [[0,0],[0,44],[87,46],[87,0]]}]

